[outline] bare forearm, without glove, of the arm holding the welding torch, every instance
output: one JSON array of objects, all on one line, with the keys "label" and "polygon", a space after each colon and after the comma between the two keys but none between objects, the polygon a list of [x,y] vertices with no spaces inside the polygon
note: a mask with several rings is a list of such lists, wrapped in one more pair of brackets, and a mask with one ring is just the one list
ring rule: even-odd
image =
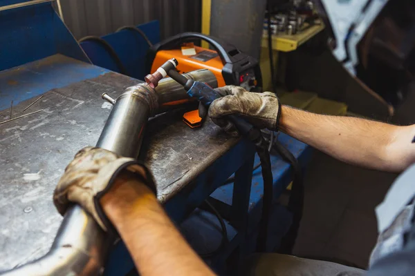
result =
[{"label": "bare forearm, without glove, of the arm holding the welding torch", "polygon": [[393,126],[282,106],[279,128],[349,164],[400,172],[415,162],[415,125]]}]

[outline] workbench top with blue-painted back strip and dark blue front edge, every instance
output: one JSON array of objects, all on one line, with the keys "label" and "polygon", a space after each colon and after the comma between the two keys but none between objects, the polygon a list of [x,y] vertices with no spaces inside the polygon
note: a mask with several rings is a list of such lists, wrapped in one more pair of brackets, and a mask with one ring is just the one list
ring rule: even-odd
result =
[{"label": "workbench top with blue-painted back strip and dark blue front edge", "polygon": [[[111,108],[100,95],[117,97],[135,83],[138,80],[63,55],[0,73],[1,87],[15,95],[13,117],[44,95],[25,113],[42,112],[0,125],[1,270],[48,251],[62,221],[53,206],[53,189],[75,152],[97,141]],[[9,115],[9,109],[1,111],[1,121]],[[145,160],[154,172],[158,198],[167,202],[176,221],[254,154],[252,146],[223,134],[210,121],[191,130],[181,115],[151,119],[147,133]]]}]

